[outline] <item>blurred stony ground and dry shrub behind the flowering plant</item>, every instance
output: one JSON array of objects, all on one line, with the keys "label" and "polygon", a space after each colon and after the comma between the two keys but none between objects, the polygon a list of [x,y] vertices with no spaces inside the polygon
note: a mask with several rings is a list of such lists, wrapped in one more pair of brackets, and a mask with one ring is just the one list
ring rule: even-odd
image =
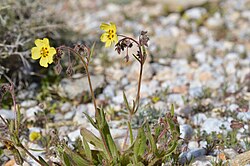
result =
[{"label": "blurred stony ground and dry shrub behind the flowering plant", "polygon": [[[111,128],[119,129],[112,134],[121,138],[126,132],[123,91],[132,102],[139,64],[133,56],[126,62],[114,46],[104,47],[102,22],[114,22],[118,34],[135,38],[148,31],[141,109],[133,127],[144,119],[157,122],[173,103],[181,137],[193,141],[186,142],[189,149],[202,147],[199,140],[207,137],[200,131],[232,131],[232,120],[245,125],[237,135],[241,146],[235,149],[250,149],[242,141],[250,133],[250,0],[0,0],[0,84],[14,82],[27,121],[40,129],[61,121],[89,125],[82,112],[93,117],[94,107],[79,60],[74,59],[74,73],[68,77],[68,59],[63,58],[63,71],[57,75],[55,65],[41,67],[30,50],[35,39],[44,37],[53,47],[91,47],[96,42],[90,72],[97,102],[105,108]],[[135,51],[132,48],[130,55]],[[0,114],[13,118],[11,106],[7,95]],[[75,141],[77,125],[58,127],[59,134]]]}]

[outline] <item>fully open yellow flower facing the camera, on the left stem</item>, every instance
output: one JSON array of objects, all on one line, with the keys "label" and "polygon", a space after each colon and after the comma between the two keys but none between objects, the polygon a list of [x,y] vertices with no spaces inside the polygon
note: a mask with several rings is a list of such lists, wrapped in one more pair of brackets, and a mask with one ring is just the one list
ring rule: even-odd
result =
[{"label": "fully open yellow flower facing the camera, on the left stem", "polygon": [[49,46],[49,39],[43,38],[35,40],[36,47],[31,49],[31,58],[36,60],[40,59],[40,65],[48,67],[48,63],[53,62],[53,56],[56,54],[56,49]]}]

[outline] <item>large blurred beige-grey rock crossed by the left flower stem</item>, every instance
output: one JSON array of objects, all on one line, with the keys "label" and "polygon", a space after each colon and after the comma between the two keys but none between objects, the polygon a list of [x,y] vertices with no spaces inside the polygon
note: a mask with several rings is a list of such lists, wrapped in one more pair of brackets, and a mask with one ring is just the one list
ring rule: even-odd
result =
[{"label": "large blurred beige-grey rock crossed by the left flower stem", "polygon": [[[91,76],[91,83],[94,90],[104,86],[104,76]],[[59,85],[59,90],[60,91],[58,93],[61,96],[67,97],[69,99],[81,97],[83,95],[83,92],[89,91],[87,77],[83,77],[82,75],[75,75],[71,79],[64,78]]]}]

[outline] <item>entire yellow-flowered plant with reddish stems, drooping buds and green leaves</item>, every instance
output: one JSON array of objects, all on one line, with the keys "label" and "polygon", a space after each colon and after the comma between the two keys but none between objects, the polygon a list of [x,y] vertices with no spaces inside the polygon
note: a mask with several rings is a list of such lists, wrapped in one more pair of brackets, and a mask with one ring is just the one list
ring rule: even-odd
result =
[{"label": "entire yellow-flowered plant with reddish stems, drooping buds and green leaves", "polygon": [[[110,47],[115,43],[115,50],[118,54],[125,52],[125,59],[129,61],[129,49],[134,45],[138,48],[136,54],[132,54],[136,61],[139,62],[140,74],[138,78],[138,87],[136,91],[136,98],[132,104],[127,100],[125,92],[123,93],[124,103],[128,112],[127,121],[127,134],[124,138],[124,144],[121,150],[115,144],[112,138],[109,125],[107,123],[106,115],[102,107],[98,107],[95,93],[92,87],[89,65],[93,58],[95,44],[90,48],[85,44],[77,44],[74,48],[68,46],[59,46],[57,48],[50,47],[49,40],[35,40],[36,47],[31,50],[32,58],[37,60],[40,58],[40,65],[47,68],[48,64],[55,63],[55,70],[61,73],[62,65],[61,60],[64,56],[68,56],[68,67],[66,69],[67,75],[73,74],[73,65],[71,56],[76,56],[83,64],[84,72],[87,75],[90,94],[95,108],[95,117],[91,118],[88,114],[84,113],[89,122],[99,131],[100,137],[94,135],[86,128],[81,128],[81,138],[76,141],[75,149],[71,149],[67,143],[60,140],[58,136],[42,137],[40,133],[31,133],[30,140],[44,140],[47,143],[47,151],[54,146],[55,151],[60,158],[59,165],[128,165],[128,166],[142,166],[142,165],[161,165],[170,159],[177,148],[180,131],[177,118],[174,115],[174,106],[171,111],[161,118],[158,123],[151,128],[149,122],[144,121],[137,130],[137,136],[134,136],[131,127],[132,117],[136,114],[140,107],[140,88],[142,82],[142,73],[144,63],[147,58],[146,47],[148,47],[149,37],[146,31],[142,31],[138,40],[117,34],[116,25],[114,23],[102,23],[100,28],[105,32],[101,35],[100,40],[105,43],[105,47]],[[118,40],[118,38],[121,38]],[[4,88],[5,87],[5,88]],[[12,86],[4,86],[3,92],[9,91],[12,95],[16,118],[13,121],[2,121],[9,129],[8,137],[10,139],[1,138],[0,140],[11,149],[13,155],[16,156],[16,162],[22,164],[23,157],[15,147],[21,149],[30,155],[38,164],[49,165],[51,161],[46,161],[42,157],[38,159],[34,157],[21,143],[20,140],[20,112],[15,103],[14,89]],[[56,135],[56,134],[54,134]],[[47,138],[47,139],[44,139]],[[127,140],[130,140],[127,144]],[[90,148],[90,144],[92,148]],[[50,147],[51,146],[51,147]]]}]

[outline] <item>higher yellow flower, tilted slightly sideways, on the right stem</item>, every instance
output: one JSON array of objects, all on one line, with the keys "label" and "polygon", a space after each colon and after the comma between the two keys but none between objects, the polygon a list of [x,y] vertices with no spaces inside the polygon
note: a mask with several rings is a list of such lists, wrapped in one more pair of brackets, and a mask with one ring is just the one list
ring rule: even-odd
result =
[{"label": "higher yellow flower, tilted slightly sideways, on the right stem", "polygon": [[100,38],[102,42],[106,43],[105,47],[110,47],[113,42],[115,44],[118,42],[116,25],[114,23],[102,23],[100,28],[105,31]]}]

